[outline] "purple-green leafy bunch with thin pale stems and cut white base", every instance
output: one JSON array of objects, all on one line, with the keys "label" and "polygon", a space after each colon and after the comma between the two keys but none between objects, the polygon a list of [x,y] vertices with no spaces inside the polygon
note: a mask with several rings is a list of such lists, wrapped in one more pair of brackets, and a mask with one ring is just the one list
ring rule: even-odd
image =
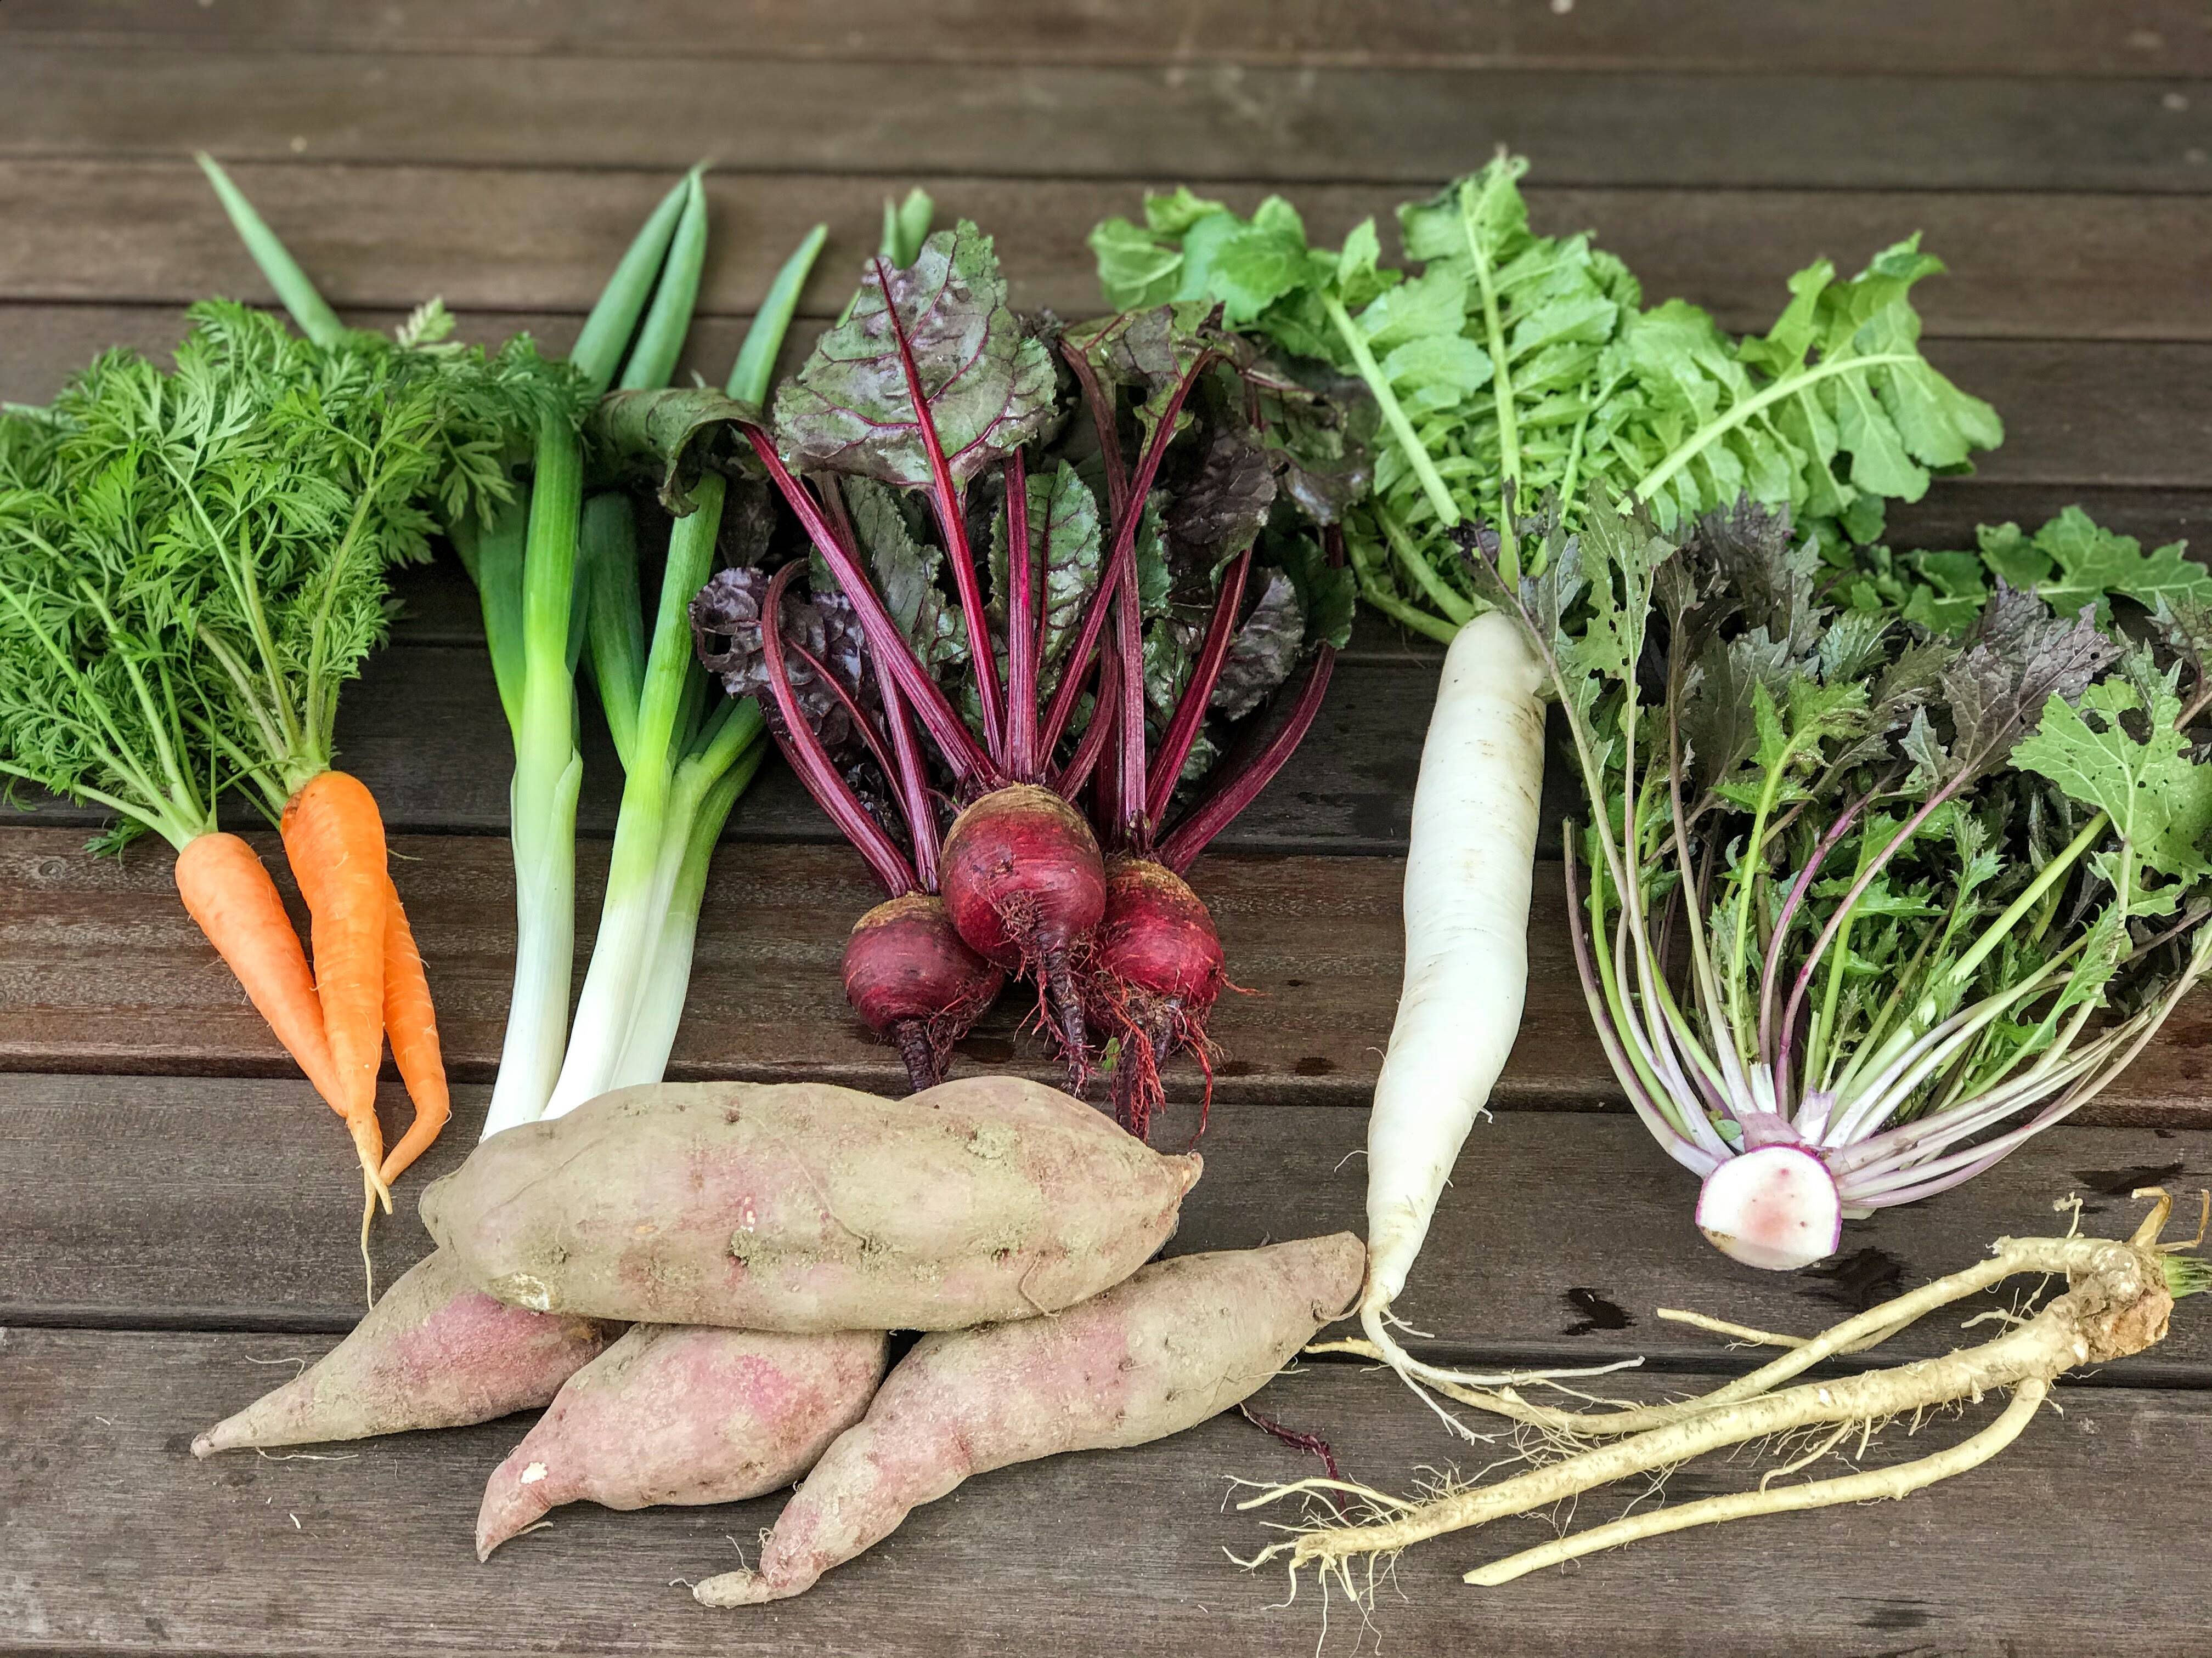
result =
[{"label": "purple-green leafy bunch with thin pale stems and cut white base", "polygon": [[2203,601],[2132,643],[2000,579],[1947,639],[1820,604],[1816,546],[1752,502],[1661,531],[1593,491],[1515,586],[1469,539],[1593,802],[1590,1017],[1736,1260],[1809,1265],[1845,1214],[1980,1174],[2212,964]]}]

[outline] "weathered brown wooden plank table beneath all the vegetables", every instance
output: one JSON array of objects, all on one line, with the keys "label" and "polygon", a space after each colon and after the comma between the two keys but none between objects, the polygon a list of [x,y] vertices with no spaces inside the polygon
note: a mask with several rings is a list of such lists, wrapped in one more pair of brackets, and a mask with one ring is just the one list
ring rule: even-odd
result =
[{"label": "weathered brown wooden plank table beneath all the vegetables", "polygon": [[[1732,327],[1770,318],[1812,254],[1854,261],[1927,230],[1953,267],[1922,290],[1931,356],[1993,398],[2011,436],[1978,478],[1900,511],[1900,542],[1960,544],[1978,520],[2039,522],[2070,500],[2143,537],[2203,535],[2208,75],[2212,13],[2190,0],[4,0],[0,398],[42,400],[111,343],[168,345],[188,298],[261,292],[190,166],[201,146],[349,316],[389,323],[436,292],[473,334],[531,327],[551,345],[661,181],[714,157],[692,356],[719,374],[803,225],[834,225],[805,305],[823,318],[880,197],[909,181],[1000,232],[1020,303],[1082,314],[1084,230],[1135,208],[1139,181],[1239,203],[1294,186],[1334,237],[1511,141],[1535,159],[1546,228],[1595,228],[1650,296],[1688,294]],[[434,570],[405,597],[341,741],[398,856],[420,858],[407,891],[465,1083],[438,1174],[469,1145],[498,1050],[509,758],[469,588]],[[1360,1220],[1433,676],[1433,652],[1365,628],[1305,754],[1201,864],[1254,995],[1219,1019],[1230,1059],[1179,1249]],[[604,844],[617,774],[597,732],[588,765],[582,825]],[[1234,1417],[980,1479],[807,1598],[750,1614],[701,1612],[675,1581],[732,1565],[732,1543],[750,1552],[768,1501],[564,1510],[478,1565],[469,1523],[513,1421],[195,1463],[195,1428],[358,1313],[358,1187],[323,1108],[190,933],[166,856],[95,862],[82,825],[15,809],[0,827],[0,1651],[1323,1640],[1312,1585],[1281,1607],[1279,1576],[1223,1556],[1265,1536],[1228,1510],[1228,1479],[1303,1472]],[[1745,1360],[1652,1322],[1655,1307],[1809,1329],[2053,1225],[2070,1192],[2090,1227],[2119,1229],[2130,1185],[2212,1176],[2197,1001],[2077,1125],[1980,1183],[1849,1227],[1829,1269],[1732,1269],[1697,1242],[1686,1178],[1617,1110],[1555,867],[1540,891],[1500,1114],[1469,1143],[1405,1304],[1436,1353],[1644,1353],[1650,1371],[1624,1391],[1703,1386]],[[763,778],[714,867],[675,1072],[894,1085],[834,988],[863,895],[858,860],[790,778]],[[580,898],[588,928],[597,893]],[[1042,1074],[1006,1024],[964,1054]],[[411,1260],[411,1216],[376,1247],[385,1276]],[[1929,1329],[1911,1351],[1947,1340]],[[2212,1320],[2183,1307],[2161,1349],[2062,1402],[1997,1466],[1902,1505],[1690,1532],[1491,1592],[1458,1572],[1528,1543],[1533,1523],[1436,1543],[1400,1561],[1371,1629],[1411,1654],[2201,1647]],[[1489,1459],[1354,1366],[1279,1379],[1263,1404],[1385,1486]],[[1692,1468],[1670,1492],[1745,1477]],[[1327,1616],[1325,1649],[1347,1651],[1360,1616]]]}]

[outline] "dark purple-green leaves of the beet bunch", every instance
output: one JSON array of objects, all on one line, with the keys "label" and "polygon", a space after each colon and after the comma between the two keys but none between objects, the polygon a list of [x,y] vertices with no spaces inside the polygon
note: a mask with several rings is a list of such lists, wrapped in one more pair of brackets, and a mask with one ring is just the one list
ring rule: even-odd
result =
[{"label": "dark purple-green leaves of the beet bunch", "polygon": [[[1011,696],[1015,486],[1037,595],[1037,699],[1057,696],[1077,648],[1088,668],[1086,623],[1095,641],[1126,526],[1155,743],[1201,668],[1228,573],[1248,559],[1230,595],[1234,632],[1206,692],[1214,734],[1199,730],[1183,780],[1210,772],[1217,736],[1259,712],[1301,661],[1349,637],[1352,577],[1332,568],[1312,531],[1365,489],[1363,431],[1323,389],[1263,363],[1219,312],[1152,305],[1068,329],[1022,318],[1006,305],[989,237],[962,221],[929,237],[911,263],[872,267],[845,321],[779,389],[776,449],[821,491],[905,648],[993,756],[1004,730],[984,685]],[[1150,484],[1135,500],[1152,449]],[[838,577],[818,553],[810,586],[834,626]],[[765,672],[759,590],[759,577],[726,573],[701,595],[708,661],[732,694],[759,690]],[[872,654],[874,641],[838,672],[830,652],[823,668],[852,679],[847,699],[807,703],[825,730],[852,723],[847,701],[876,710]],[[1040,725],[1079,738],[1093,703],[1084,692],[1057,730]]]}]

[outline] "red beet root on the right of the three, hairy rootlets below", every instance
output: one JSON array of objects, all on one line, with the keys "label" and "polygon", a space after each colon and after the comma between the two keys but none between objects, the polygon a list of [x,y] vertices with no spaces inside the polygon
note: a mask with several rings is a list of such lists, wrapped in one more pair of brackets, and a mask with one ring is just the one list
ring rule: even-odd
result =
[{"label": "red beet root on the right of the three, hairy rootlets below", "polygon": [[[1119,1041],[1115,1116],[1137,1138],[1164,1099],[1159,1066],[1183,1048],[1206,1066],[1206,1017],[1225,984],[1214,917],[1183,878],[1150,858],[1115,858],[1088,988],[1093,1012]],[[1206,1094],[1210,1103],[1212,1068]]]}]

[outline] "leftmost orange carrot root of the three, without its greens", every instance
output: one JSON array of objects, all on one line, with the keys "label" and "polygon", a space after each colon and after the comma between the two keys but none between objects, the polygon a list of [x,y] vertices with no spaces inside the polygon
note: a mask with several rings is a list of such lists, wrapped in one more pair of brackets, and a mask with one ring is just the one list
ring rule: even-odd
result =
[{"label": "leftmost orange carrot root of the three, without its greens", "polygon": [[230,833],[188,840],[177,853],[177,898],[237,975],[254,1010],[270,1021],[276,1041],[343,1114],[314,973],[276,882],[254,849]]}]

